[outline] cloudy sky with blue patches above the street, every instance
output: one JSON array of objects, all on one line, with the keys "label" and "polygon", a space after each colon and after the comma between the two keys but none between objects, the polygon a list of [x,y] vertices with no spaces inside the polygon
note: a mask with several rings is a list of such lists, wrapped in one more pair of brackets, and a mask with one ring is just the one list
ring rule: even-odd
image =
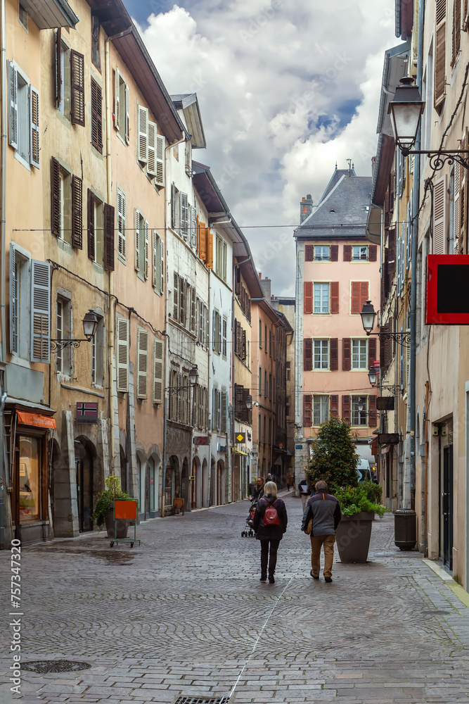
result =
[{"label": "cloudy sky with blue patches above the street", "polygon": [[207,149],[195,159],[258,270],[293,294],[302,196],[319,201],[336,161],[371,175],[383,53],[400,43],[394,0],[124,1],[169,93],[198,94]]}]

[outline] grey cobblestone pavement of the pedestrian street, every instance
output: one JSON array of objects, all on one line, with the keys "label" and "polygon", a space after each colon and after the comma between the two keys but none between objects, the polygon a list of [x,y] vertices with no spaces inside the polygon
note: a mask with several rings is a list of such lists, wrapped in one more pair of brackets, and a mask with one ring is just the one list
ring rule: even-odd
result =
[{"label": "grey cobblestone pavement of the pedestrian street", "polygon": [[[240,535],[246,502],[141,524],[133,549],[110,548],[103,534],[23,548],[23,662],[91,669],[23,670],[21,699],[171,704],[236,684],[236,704],[469,703],[469,608],[419,553],[394,547],[392,516],[373,524],[370,562],[336,562],[326,584],[309,576],[300,498],[285,503],[274,585],[259,582],[258,541]],[[9,687],[0,685],[2,704],[13,700]]]}]

